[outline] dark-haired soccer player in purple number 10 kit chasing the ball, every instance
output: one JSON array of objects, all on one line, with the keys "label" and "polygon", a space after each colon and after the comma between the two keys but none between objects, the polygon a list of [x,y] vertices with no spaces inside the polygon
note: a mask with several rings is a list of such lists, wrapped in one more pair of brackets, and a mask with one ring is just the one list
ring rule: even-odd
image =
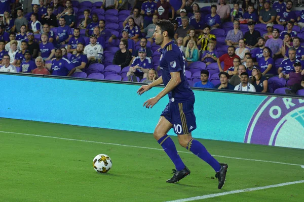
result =
[{"label": "dark-haired soccer player in purple number 10 kit chasing the ball", "polygon": [[221,189],[225,182],[228,165],[218,163],[208,153],[204,145],[193,139],[191,135],[191,132],[196,129],[196,118],[193,112],[195,97],[185,77],[183,55],[179,47],[172,41],[174,25],[169,20],[159,21],[155,28],[154,37],[156,44],[162,47],[160,58],[162,76],[148,85],[141,86],[137,93],[141,95],[154,86],[165,84],[165,88],[157,96],[144,102],[143,106],[146,108],[153,108],[163,96],[169,95],[169,104],[162,112],[154,131],[154,137],[176,167],[173,170],[173,177],[168,179],[167,182],[176,183],[190,174],[190,170],[179,157],[174,142],[167,135],[169,130],[174,128],[180,145],[192,151],[215,170],[215,177],[218,178],[218,188]]}]

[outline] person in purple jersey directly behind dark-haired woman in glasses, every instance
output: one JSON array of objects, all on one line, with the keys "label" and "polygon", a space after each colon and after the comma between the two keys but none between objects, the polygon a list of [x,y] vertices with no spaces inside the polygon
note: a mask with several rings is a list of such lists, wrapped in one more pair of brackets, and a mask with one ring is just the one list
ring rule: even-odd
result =
[{"label": "person in purple jersey directly behind dark-haired woman in glasses", "polygon": [[264,47],[263,57],[258,61],[260,72],[267,78],[274,76],[275,74],[275,61],[270,57],[271,50],[269,47]]}]

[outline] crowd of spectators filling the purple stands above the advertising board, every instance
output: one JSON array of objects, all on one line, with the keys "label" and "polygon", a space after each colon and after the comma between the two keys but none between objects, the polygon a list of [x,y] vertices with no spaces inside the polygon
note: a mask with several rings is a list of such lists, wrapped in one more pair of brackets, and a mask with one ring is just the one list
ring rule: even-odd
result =
[{"label": "crowd of spectators filling the purple stands above the advertising board", "polygon": [[168,19],[192,86],[269,92],[276,77],[289,79],[286,93],[294,94],[304,87],[304,10],[293,4],[33,0],[24,14],[18,0],[1,1],[0,71],[74,76],[93,64],[116,65],[121,80],[152,82],[161,76],[153,33],[158,20]]}]

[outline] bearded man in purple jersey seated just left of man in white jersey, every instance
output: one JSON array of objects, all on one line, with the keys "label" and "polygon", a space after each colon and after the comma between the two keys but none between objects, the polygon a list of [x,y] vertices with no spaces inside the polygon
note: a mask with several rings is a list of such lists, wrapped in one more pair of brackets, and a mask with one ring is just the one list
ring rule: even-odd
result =
[{"label": "bearded man in purple jersey seated just left of man in white jersey", "polygon": [[72,75],[74,72],[81,72],[85,70],[88,64],[88,57],[83,54],[84,44],[78,43],[76,48],[76,54],[72,55],[70,61],[73,65],[73,69],[70,71],[68,76]]}]

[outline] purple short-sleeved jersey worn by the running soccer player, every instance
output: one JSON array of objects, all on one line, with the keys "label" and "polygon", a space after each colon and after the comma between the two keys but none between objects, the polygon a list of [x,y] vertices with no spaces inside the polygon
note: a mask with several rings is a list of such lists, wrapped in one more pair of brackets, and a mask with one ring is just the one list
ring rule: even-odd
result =
[{"label": "purple short-sleeved jersey worn by the running soccer player", "polygon": [[171,72],[179,72],[181,82],[168,93],[170,102],[185,102],[194,99],[194,93],[185,77],[184,57],[179,47],[173,41],[167,43],[161,50],[160,68],[164,85],[171,79]]}]

